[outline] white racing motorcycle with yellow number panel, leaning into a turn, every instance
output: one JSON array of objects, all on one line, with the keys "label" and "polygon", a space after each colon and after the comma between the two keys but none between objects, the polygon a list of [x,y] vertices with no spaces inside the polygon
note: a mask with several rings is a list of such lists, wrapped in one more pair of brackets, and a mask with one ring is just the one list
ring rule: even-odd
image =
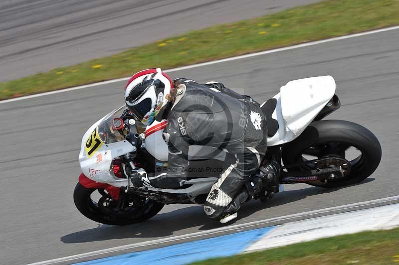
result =
[{"label": "white racing motorcycle with yellow number panel, leaning into a turn", "polygon": [[[356,123],[322,120],[340,108],[335,90],[331,76],[294,80],[261,105],[268,125],[265,159],[281,162],[280,184],[335,188],[361,182],[377,169],[382,151],[373,133]],[[128,225],[155,216],[165,204],[204,204],[212,184],[230,164],[231,154],[220,148],[190,146],[188,179],[179,189],[131,184],[131,169],[166,172],[167,124],[162,120],[144,127],[123,106],[87,130],[79,153],[82,173],[73,194],[84,216]],[[267,197],[272,194],[260,192],[250,199]]]}]

